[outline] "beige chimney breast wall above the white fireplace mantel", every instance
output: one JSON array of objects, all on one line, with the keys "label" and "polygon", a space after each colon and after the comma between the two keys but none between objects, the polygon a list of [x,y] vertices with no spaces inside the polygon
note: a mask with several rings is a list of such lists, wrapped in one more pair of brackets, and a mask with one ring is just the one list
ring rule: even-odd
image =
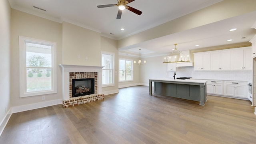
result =
[{"label": "beige chimney breast wall above the white fireplace mantel", "polygon": [[62,64],[100,66],[100,33],[63,22],[62,42]]}]

